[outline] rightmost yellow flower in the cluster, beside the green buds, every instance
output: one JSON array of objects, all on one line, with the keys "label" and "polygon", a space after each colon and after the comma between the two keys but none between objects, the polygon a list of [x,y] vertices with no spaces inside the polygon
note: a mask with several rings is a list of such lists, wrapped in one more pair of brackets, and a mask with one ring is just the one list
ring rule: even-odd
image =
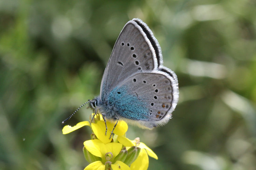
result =
[{"label": "rightmost yellow flower in the cluster, beside the green buds", "polygon": [[118,136],[117,140],[127,147],[127,149],[132,146],[141,148],[138,158],[130,166],[131,170],[146,170],[148,168],[148,156],[158,159],[157,155],[145,143],[140,142],[140,138],[130,140],[126,137]]}]

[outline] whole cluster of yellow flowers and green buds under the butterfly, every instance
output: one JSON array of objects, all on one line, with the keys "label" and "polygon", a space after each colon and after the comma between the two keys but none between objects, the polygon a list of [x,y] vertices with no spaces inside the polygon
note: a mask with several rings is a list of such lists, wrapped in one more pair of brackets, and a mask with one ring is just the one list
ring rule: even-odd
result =
[{"label": "whole cluster of yellow flowers and green buds under the butterfly", "polygon": [[107,121],[106,125],[107,131],[102,116],[96,114],[92,122],[83,121],[73,127],[66,125],[62,129],[63,134],[83,126],[89,126],[93,131],[91,140],[84,142],[84,156],[90,163],[84,170],[146,170],[148,156],[158,159],[150,148],[140,142],[140,138],[130,140],[125,137],[128,130],[125,121],[118,121],[111,138],[115,122]]}]

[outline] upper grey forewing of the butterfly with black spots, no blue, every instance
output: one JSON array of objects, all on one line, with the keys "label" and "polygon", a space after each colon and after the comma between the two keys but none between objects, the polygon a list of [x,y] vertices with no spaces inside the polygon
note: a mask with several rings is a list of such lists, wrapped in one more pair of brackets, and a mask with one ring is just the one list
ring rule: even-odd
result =
[{"label": "upper grey forewing of the butterfly with black spots, no blue", "polygon": [[138,72],[156,70],[161,49],[152,31],[140,19],[126,23],[116,40],[101,81],[102,100],[120,82]]}]

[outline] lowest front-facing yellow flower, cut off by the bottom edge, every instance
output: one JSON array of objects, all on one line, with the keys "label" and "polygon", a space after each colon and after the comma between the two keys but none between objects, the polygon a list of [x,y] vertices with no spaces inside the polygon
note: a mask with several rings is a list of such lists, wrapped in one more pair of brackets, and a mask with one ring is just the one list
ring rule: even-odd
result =
[{"label": "lowest front-facing yellow flower, cut off by the bottom edge", "polygon": [[95,161],[89,164],[84,170],[104,170],[105,166],[109,166],[113,170],[130,170],[125,163],[117,160],[115,157],[121,151],[123,145],[121,143],[110,142],[103,143],[99,139],[87,140],[84,142],[85,148],[93,155],[101,158],[101,161]]}]

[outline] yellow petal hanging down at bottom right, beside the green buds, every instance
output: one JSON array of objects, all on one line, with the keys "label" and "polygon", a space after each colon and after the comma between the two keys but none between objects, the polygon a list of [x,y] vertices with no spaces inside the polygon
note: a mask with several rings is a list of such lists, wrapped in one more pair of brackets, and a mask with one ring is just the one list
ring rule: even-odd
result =
[{"label": "yellow petal hanging down at bottom right, beside the green buds", "polygon": [[131,164],[131,170],[146,170],[148,168],[148,156],[145,149],[141,149],[138,158]]}]

